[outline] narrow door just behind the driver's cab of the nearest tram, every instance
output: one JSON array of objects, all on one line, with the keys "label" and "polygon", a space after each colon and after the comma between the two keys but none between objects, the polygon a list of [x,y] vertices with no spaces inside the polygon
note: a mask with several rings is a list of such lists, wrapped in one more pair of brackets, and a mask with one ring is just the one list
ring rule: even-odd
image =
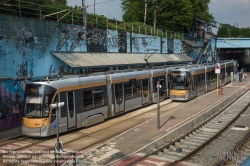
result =
[{"label": "narrow door just behind the driver's cab of the nearest tram", "polygon": [[68,129],[76,127],[76,110],[74,92],[67,92],[67,124]]}]

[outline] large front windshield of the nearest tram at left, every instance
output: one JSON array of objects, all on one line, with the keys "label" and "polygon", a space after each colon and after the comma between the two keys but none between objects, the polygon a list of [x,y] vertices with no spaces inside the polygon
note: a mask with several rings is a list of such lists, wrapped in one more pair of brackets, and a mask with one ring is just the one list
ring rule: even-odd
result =
[{"label": "large front windshield of the nearest tram at left", "polygon": [[45,94],[44,85],[26,85],[25,117],[47,118],[49,116],[49,100],[52,95]]}]

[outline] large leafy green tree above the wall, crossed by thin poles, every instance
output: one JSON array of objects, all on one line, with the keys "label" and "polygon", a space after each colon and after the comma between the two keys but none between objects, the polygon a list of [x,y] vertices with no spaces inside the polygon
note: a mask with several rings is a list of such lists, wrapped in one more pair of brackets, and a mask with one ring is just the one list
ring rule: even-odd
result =
[{"label": "large leafy green tree above the wall, crossed by thin poles", "polygon": [[[190,28],[192,18],[197,17],[205,22],[214,22],[209,13],[210,0],[147,0],[147,21],[153,25],[153,1],[157,3],[157,27],[172,31],[183,31]],[[123,19],[126,22],[144,22],[145,0],[122,0]]]}]

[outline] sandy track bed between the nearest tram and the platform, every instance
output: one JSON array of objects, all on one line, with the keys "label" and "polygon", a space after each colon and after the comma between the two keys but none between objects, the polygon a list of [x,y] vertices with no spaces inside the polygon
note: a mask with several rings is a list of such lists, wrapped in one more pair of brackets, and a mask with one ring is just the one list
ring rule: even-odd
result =
[{"label": "sandy track bed between the nearest tram and the platform", "polygon": [[[210,93],[214,93],[214,92],[206,93],[206,94],[204,94],[202,96],[199,96],[198,98],[196,98],[194,100],[191,100],[191,101],[186,102],[184,104],[180,104],[180,105],[178,105],[178,106],[176,106],[176,107],[174,107],[172,109],[168,109],[166,111],[161,111],[161,115],[164,115],[166,113],[171,113],[171,112],[174,112],[174,111],[176,111],[176,110],[178,110],[180,108],[186,107],[188,104],[190,104],[192,102],[195,102],[197,99],[205,97],[206,95],[208,95]],[[166,105],[164,105],[164,106],[166,106]],[[164,109],[164,106],[162,106],[162,109]],[[144,109],[144,108],[142,108],[142,109]],[[106,122],[100,124],[102,126],[101,129],[100,129],[100,127],[98,128],[99,125],[95,125],[95,126],[92,126],[92,127],[89,127],[89,128],[83,128],[83,129],[80,129],[80,130],[77,129],[76,134],[73,134],[73,135],[72,135],[72,132],[75,132],[76,130],[60,134],[61,135],[60,140],[62,140],[62,142],[64,144],[64,147],[67,147],[67,146],[71,146],[71,144],[74,144],[75,142],[82,142],[82,139],[85,140],[87,138],[88,139],[96,138],[96,137],[98,138],[98,137],[100,137],[100,135],[102,135],[101,134],[102,132],[105,133],[109,129],[112,130],[111,129],[112,127],[116,128],[116,126],[118,126],[118,125],[133,124],[133,125],[131,125],[129,127],[129,128],[133,128],[134,126],[137,126],[137,125],[139,125],[141,123],[144,123],[145,121],[148,121],[148,120],[154,118],[156,116],[156,110],[157,110],[156,108],[153,108],[153,109],[146,110],[143,113],[141,113],[141,111],[132,111],[132,112],[129,112],[129,113],[126,114],[127,116],[129,116],[129,115],[133,116],[132,118],[127,118],[126,119],[126,117],[124,115],[121,115],[119,117],[115,117],[115,118],[112,118],[112,119],[109,119],[108,121],[106,121],[108,123],[108,125],[106,125],[106,126],[104,125]],[[152,114],[152,115],[149,116],[147,114]],[[143,117],[143,115],[145,117]],[[138,120],[138,119],[141,119],[141,120]],[[117,122],[117,121],[119,121],[119,122]],[[136,121],[137,123],[136,124],[135,123],[128,123],[128,121]],[[89,142],[87,145],[83,144],[82,146],[78,146],[77,148],[73,148],[73,149],[75,151],[84,151],[86,149],[91,149],[91,148],[97,147],[100,144],[104,143],[105,141],[107,141],[109,139],[112,139],[113,137],[121,134],[125,130],[128,130],[129,128],[124,128],[121,131],[119,131],[117,133],[114,133],[114,134],[111,134],[110,136],[108,136],[108,137],[106,137],[106,138],[104,138],[104,139],[102,139],[100,141],[96,141],[95,139],[93,139],[93,140],[95,140],[94,142]],[[82,134],[82,133],[84,133],[84,134]],[[26,141],[28,141],[28,139],[30,139],[30,138],[27,137],[27,138],[23,138],[23,139],[24,140],[26,139]],[[27,146],[24,146],[24,147],[21,147],[21,148],[14,149],[14,151],[18,151],[18,150],[20,151],[20,150],[26,150],[26,149],[29,149],[29,148],[34,148],[34,146],[39,145],[39,144],[46,144],[46,142],[48,144],[50,144],[50,145],[54,145],[54,143],[56,142],[55,139],[56,138],[49,138],[49,139],[46,139],[46,140],[43,140],[43,141],[38,141],[37,143],[33,143],[33,144],[30,144],[30,145],[27,145]],[[36,139],[34,139],[34,140],[36,141]],[[50,146],[50,147],[51,148],[44,149],[44,151],[53,151],[54,147],[53,146]],[[1,146],[0,146],[0,148],[1,148]],[[43,153],[37,153],[36,155],[44,155],[44,154]],[[3,156],[3,154],[0,155],[0,160],[3,159],[2,156]],[[52,156],[54,157],[54,154],[52,154]],[[30,158],[20,158],[20,160],[30,160]],[[9,164],[9,165],[18,165],[18,164]],[[41,165],[41,164],[39,164],[39,165]],[[42,164],[42,165],[44,165],[44,164]]]}]

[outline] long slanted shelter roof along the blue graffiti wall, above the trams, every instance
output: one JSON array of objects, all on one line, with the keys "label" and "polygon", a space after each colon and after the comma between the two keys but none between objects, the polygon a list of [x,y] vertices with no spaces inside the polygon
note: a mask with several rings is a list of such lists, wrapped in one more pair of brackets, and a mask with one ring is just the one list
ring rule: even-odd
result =
[{"label": "long slanted shelter roof along the blue graffiti wall, above the trams", "polygon": [[[119,65],[146,65],[145,56],[151,53],[131,54],[131,53],[79,53],[79,52],[51,52],[57,58],[71,66],[72,68],[81,67],[100,67],[100,66],[119,66]],[[191,62],[192,58],[186,54],[153,54],[148,63],[171,63],[171,62]]]}]

